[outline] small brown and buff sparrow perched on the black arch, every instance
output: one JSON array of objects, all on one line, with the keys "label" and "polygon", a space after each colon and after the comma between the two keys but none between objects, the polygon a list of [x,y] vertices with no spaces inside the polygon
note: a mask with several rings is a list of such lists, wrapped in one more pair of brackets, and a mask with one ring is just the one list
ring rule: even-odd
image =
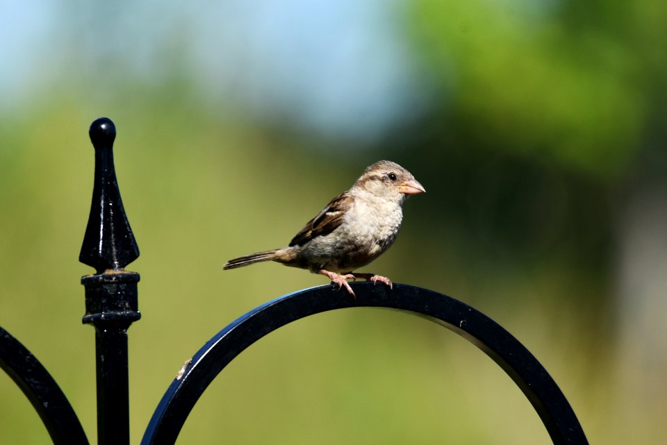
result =
[{"label": "small brown and buff sparrow perched on the black arch", "polygon": [[223,269],[235,269],[261,261],[277,261],[309,269],[329,277],[338,289],[348,279],[365,278],[391,287],[391,281],[375,274],[354,274],[386,251],[398,235],[403,203],[411,194],[426,192],[414,176],[387,160],[365,169],[352,188],[332,199],[283,249],[252,253],[229,260]]}]

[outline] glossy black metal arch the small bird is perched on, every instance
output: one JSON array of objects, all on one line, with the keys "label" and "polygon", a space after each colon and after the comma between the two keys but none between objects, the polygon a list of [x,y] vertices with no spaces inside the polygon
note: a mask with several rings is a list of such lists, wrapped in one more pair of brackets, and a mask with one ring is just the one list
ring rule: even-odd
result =
[{"label": "glossy black metal arch the small bird is perched on", "polygon": [[312,287],[269,301],[222,329],[197,351],[167,389],[142,445],[174,444],[206,387],[231,360],[261,337],[312,314],[352,307],[417,314],[468,339],[514,380],[541,417],[554,444],[588,444],[575,413],[549,373],[495,321],[461,301],[421,287],[397,283],[391,290],[371,283],[352,286],[356,299],[345,289],[335,292],[331,285]]}]

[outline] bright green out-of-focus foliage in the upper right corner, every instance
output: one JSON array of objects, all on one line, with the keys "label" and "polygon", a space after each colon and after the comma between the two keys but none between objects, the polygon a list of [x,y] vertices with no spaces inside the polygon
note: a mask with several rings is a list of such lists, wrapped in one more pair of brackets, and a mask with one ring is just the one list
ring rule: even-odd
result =
[{"label": "bright green out-of-focus foliage in the upper right corner", "polygon": [[652,111],[650,67],[664,74],[664,51],[627,38],[646,26],[636,3],[415,3],[413,33],[456,142],[603,178],[627,171]]}]

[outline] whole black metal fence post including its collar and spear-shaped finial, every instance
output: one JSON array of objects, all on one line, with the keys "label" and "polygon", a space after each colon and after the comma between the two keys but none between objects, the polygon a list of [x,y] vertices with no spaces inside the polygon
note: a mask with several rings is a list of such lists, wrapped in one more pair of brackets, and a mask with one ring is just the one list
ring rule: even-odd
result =
[{"label": "whole black metal fence post including its collar and spear-shaped finial", "polygon": [[97,443],[129,445],[127,329],[140,319],[139,274],[125,271],[139,248],[125,215],[113,165],[115,126],[100,118],[90,126],[95,177],[88,226],[79,260],[94,267],[83,276],[84,324],[95,328],[97,355]]}]

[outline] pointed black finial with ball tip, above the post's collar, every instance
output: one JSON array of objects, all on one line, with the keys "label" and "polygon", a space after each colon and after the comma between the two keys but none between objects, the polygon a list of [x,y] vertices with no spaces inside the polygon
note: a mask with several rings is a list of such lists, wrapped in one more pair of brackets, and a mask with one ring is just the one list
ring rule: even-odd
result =
[{"label": "pointed black finial with ball tip, above the post's collar", "polygon": [[139,247],[125,215],[113,166],[116,127],[110,119],[100,117],[90,125],[89,134],[95,147],[95,178],[79,261],[101,274],[124,269],[138,258]]}]

